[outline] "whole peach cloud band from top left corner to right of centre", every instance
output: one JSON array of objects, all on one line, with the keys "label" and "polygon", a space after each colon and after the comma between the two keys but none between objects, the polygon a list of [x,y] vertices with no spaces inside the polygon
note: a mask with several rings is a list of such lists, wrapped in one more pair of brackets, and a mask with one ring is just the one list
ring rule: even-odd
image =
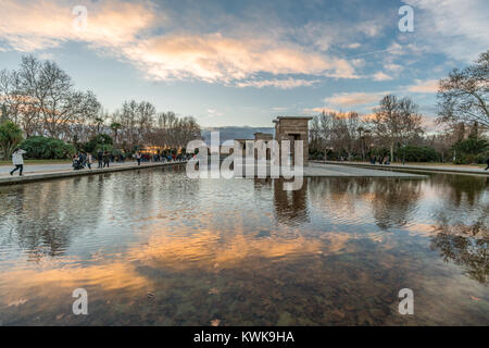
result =
[{"label": "whole peach cloud band from top left corner to right of centre", "polygon": [[75,4],[55,0],[28,0],[20,4],[3,0],[0,40],[24,52],[84,41],[97,52],[135,64],[147,78],[154,80],[197,78],[240,87],[293,88],[311,86],[314,82],[259,80],[256,75],[358,78],[347,60],[314,51],[286,37],[236,30],[188,33],[175,27],[173,32],[165,27],[166,34],[161,35],[164,25],[170,26],[175,18],[166,21],[164,13],[142,0],[91,2],[87,7],[86,30],[76,30],[71,12]]}]

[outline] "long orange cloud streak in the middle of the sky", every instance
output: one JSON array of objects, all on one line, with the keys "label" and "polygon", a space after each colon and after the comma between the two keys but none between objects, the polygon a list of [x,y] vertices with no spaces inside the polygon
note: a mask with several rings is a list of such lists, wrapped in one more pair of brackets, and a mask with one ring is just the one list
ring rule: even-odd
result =
[{"label": "long orange cloud streak in the middle of the sky", "polygon": [[[208,82],[229,83],[261,72],[355,77],[354,69],[342,59],[329,59],[298,46],[276,44],[265,38],[240,40],[220,33],[150,38],[127,51],[126,55],[145,65],[149,77],[160,79],[192,76]],[[254,85],[291,88],[304,85],[304,80],[286,79],[286,83],[275,80]]]}]

